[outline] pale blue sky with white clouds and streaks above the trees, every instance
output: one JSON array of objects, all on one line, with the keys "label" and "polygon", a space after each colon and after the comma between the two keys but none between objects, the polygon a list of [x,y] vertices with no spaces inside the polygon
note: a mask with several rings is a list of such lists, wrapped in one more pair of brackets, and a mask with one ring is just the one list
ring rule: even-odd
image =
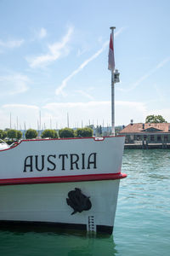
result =
[{"label": "pale blue sky with white clouds and streaks above the trees", "polygon": [[170,122],[170,1],[0,0],[0,129]]}]

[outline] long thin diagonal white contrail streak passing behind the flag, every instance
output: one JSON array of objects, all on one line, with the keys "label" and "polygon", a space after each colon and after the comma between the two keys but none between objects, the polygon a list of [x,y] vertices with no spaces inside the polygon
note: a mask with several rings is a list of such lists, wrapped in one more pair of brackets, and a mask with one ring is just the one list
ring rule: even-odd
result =
[{"label": "long thin diagonal white contrail streak passing behind the flag", "polygon": [[[124,27],[122,27],[118,32],[115,33],[115,37],[118,36],[122,31],[124,30]],[[105,41],[105,43],[102,45],[102,47],[94,53],[94,55],[90,56],[86,61],[83,61],[82,64],[77,67],[76,70],[74,70],[70,75],[68,75],[62,83],[59,85],[59,87],[55,90],[55,94],[57,96],[62,95],[65,96],[64,88],[66,87],[68,81],[73,78],[77,73],[81,72],[84,67],[88,65],[89,62],[94,61],[104,50],[106,47],[109,47],[109,40]]]}]

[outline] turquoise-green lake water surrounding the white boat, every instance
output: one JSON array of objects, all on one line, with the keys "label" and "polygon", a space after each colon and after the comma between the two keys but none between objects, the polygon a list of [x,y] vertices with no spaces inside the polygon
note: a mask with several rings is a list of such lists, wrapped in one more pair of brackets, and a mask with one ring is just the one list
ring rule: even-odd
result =
[{"label": "turquoise-green lake water surrounding the white boat", "polygon": [[0,230],[1,256],[169,256],[170,150],[125,150],[113,236]]}]

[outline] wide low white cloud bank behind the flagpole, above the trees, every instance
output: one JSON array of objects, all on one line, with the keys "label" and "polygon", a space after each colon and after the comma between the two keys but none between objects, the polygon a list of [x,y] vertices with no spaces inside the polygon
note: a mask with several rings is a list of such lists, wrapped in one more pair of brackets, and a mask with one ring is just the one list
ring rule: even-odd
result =
[{"label": "wide low white cloud bank behind the flagpole, above the trees", "polygon": [[[143,102],[116,102],[116,125],[127,125],[130,119],[134,122],[143,122],[146,116],[146,107]],[[69,113],[70,124],[74,126],[82,121],[84,125],[89,123],[111,125],[111,102],[62,102],[48,103],[43,111],[58,121],[61,126],[66,125],[66,116]]]}]

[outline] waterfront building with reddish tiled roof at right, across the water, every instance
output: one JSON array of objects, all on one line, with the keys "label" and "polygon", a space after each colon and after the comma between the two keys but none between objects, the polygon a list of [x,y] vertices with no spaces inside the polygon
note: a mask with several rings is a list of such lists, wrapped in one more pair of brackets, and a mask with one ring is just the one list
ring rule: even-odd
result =
[{"label": "waterfront building with reddish tiled roof at right, across the water", "polygon": [[119,132],[125,143],[170,143],[170,123],[138,123],[127,125]]}]

